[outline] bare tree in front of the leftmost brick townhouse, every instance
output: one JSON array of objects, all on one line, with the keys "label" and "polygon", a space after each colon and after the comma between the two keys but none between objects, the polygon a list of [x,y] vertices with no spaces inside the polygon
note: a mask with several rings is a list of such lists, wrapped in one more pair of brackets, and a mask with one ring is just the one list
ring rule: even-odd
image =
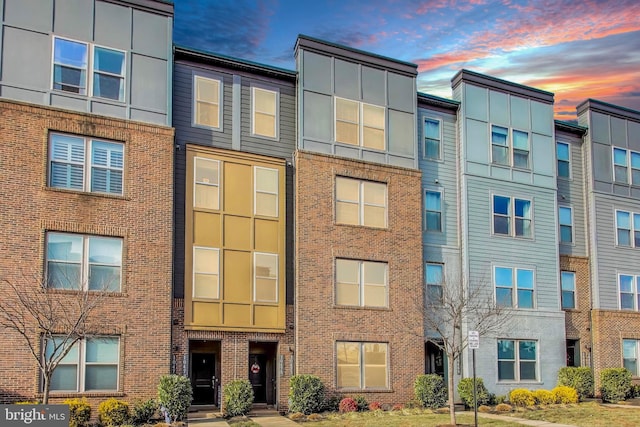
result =
[{"label": "bare tree in front of the leftmost brick townhouse", "polygon": [[12,281],[0,289],[0,329],[22,338],[42,376],[42,403],[49,401],[54,370],[74,345],[95,333],[94,312],[107,294],[99,291],[48,289],[39,274]]}]

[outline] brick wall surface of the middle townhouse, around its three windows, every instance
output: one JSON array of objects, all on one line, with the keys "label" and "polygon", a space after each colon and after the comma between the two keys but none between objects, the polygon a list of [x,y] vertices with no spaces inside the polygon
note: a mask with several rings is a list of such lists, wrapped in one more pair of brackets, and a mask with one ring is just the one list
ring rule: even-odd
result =
[{"label": "brick wall surface of the middle townhouse, around its three windows", "polygon": [[[420,172],[300,151],[295,166],[296,373],[329,392],[406,403],[424,371]],[[335,224],[336,176],[387,183],[386,229]],[[336,257],[388,262],[389,308],[336,307]],[[337,390],[336,341],[388,343],[389,390]]]}]

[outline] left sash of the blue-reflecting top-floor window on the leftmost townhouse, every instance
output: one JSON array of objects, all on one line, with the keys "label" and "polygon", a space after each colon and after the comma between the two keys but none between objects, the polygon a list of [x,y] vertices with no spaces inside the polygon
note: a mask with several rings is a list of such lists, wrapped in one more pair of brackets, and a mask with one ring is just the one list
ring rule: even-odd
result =
[{"label": "left sash of the blue-reflecting top-floor window on the leftmost townhouse", "polygon": [[87,94],[88,47],[86,43],[53,39],[53,88]]}]

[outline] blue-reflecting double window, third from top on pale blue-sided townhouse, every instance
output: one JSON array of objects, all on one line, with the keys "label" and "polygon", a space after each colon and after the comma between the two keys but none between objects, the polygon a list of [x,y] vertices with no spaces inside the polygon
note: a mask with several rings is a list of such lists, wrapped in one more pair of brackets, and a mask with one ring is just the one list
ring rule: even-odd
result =
[{"label": "blue-reflecting double window, third from top on pale blue-sided townhouse", "polygon": [[499,306],[534,308],[533,270],[495,267],[493,280]]}]

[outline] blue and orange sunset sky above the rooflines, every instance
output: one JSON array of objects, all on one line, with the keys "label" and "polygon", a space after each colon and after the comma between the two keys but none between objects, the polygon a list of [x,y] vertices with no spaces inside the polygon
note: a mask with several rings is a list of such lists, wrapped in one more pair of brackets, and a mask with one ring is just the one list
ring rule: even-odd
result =
[{"label": "blue and orange sunset sky above the rooflines", "polygon": [[477,71],[555,93],[556,118],[587,98],[640,111],[638,0],[174,0],[175,42],[295,69],[298,34],[418,65],[418,90],[451,98]]}]

